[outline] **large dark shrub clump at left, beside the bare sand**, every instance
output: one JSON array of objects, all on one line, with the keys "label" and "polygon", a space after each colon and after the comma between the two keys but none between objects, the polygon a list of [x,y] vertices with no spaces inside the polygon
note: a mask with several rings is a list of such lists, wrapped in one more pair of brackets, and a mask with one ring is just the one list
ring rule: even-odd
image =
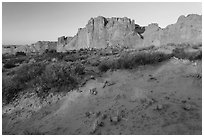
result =
[{"label": "large dark shrub clump at left, beside the bare sand", "polygon": [[10,81],[3,81],[3,98],[10,102],[20,92],[27,92],[27,88],[33,88],[39,97],[45,97],[52,88],[58,89],[54,92],[69,91],[77,87],[82,74],[81,64],[75,67],[66,62],[25,64],[15,70]]}]

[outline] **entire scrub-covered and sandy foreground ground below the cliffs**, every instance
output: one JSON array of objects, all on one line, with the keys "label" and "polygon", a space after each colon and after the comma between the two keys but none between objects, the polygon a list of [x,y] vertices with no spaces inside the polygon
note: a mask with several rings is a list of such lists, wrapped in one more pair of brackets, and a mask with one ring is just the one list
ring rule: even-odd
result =
[{"label": "entire scrub-covered and sandy foreground ground below the cliffs", "polygon": [[201,134],[202,45],[3,56],[3,134]]}]

